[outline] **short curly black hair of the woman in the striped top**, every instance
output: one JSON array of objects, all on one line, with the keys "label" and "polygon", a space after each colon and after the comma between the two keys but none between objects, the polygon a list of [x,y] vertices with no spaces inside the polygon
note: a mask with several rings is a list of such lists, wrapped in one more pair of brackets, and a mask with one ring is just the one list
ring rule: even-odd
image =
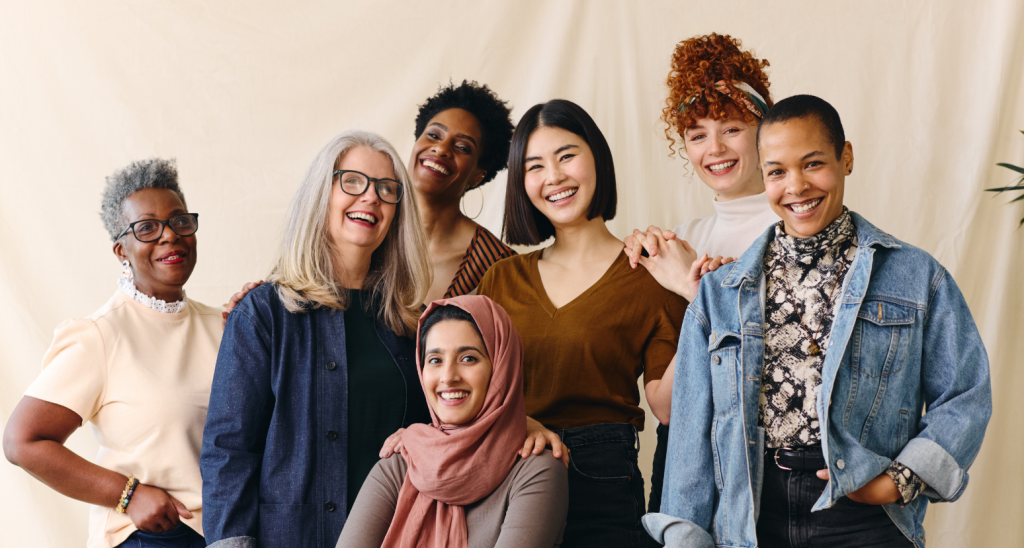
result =
[{"label": "short curly black hair of the woman in the striped top", "polygon": [[[463,80],[462,84],[440,87],[437,94],[420,106],[416,115],[417,139],[423,135],[430,120],[449,109],[462,109],[476,117],[480,124],[480,159],[477,165],[486,171],[480,184],[495,178],[499,171],[505,169],[509,156],[509,141],[512,139],[512,110],[508,101],[498,97],[498,94],[487,88],[486,84]],[[479,185],[477,185],[479,186]]]}]

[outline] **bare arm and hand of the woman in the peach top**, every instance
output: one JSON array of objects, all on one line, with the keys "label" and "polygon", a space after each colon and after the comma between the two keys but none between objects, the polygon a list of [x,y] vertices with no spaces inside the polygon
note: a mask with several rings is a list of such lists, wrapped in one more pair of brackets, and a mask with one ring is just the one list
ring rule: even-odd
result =
[{"label": "bare arm and hand of the woman in the peach top", "polygon": [[[57,493],[89,504],[114,508],[128,477],[97,466],[65,447],[82,425],[82,417],[56,404],[25,396],[3,432],[3,452],[11,464]],[[128,505],[128,517],[146,533],[170,531],[191,517],[181,502],[162,489],[139,483]]]}]

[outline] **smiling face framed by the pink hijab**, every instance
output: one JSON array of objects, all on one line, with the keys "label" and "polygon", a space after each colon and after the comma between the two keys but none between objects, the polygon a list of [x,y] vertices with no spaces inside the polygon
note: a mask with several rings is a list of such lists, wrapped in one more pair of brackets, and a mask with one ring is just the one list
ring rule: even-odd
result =
[{"label": "smiling face framed by the pink hijab", "polygon": [[423,391],[437,419],[444,424],[476,419],[493,371],[476,327],[462,320],[434,324],[424,347]]}]

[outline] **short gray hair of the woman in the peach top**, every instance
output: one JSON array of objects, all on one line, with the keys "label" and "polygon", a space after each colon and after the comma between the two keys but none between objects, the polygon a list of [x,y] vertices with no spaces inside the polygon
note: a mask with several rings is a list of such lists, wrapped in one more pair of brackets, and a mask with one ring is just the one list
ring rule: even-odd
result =
[{"label": "short gray hair of the woman in the peach top", "polygon": [[[99,218],[103,219],[103,227],[110,233],[112,242],[117,242],[118,235],[128,227],[128,217],[124,213],[125,200],[145,188],[173,191],[181,199],[181,204],[185,205],[185,195],[178,186],[178,166],[173,159],[151,158],[132,162],[128,167],[106,177],[106,187],[103,188]],[[185,209],[187,208],[185,205]]]}]

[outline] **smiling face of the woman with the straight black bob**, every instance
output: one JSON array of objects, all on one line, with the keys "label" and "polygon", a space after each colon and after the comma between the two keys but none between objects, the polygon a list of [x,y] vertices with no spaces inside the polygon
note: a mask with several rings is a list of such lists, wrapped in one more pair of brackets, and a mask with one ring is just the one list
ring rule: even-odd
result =
[{"label": "smiling face of the woman with the straight black bob", "polygon": [[538,128],[526,143],[523,171],[526,196],[551,224],[587,222],[597,171],[583,137],[558,127]]}]

